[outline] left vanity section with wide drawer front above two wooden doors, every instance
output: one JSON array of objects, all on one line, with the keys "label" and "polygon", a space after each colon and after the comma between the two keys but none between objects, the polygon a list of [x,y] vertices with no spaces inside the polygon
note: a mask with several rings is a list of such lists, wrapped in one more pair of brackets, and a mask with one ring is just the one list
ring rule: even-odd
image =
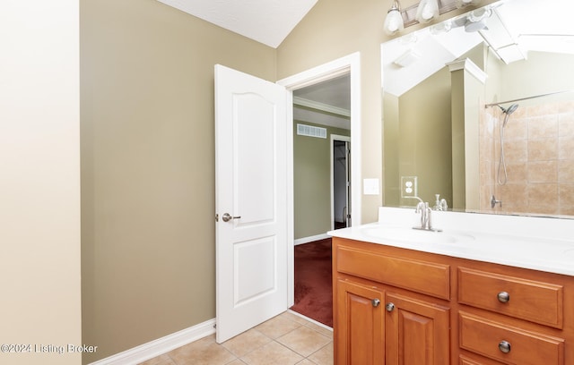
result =
[{"label": "left vanity section with wide drawer front above two wooden doors", "polygon": [[335,363],[447,364],[449,267],[333,243]]}]

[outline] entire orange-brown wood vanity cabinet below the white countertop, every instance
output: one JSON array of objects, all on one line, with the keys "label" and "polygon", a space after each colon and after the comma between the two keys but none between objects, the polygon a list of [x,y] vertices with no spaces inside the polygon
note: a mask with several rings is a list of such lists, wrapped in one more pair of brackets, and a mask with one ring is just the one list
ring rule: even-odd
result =
[{"label": "entire orange-brown wood vanity cabinet below the white countertop", "polygon": [[574,278],[333,238],[336,365],[574,364]]}]

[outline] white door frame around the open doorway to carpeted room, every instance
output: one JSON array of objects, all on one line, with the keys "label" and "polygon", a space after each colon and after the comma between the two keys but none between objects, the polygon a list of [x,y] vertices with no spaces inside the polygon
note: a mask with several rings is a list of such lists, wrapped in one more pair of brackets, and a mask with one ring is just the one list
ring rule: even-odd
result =
[{"label": "white door frame around the open doorway to carpeted room", "polygon": [[351,178],[352,225],[361,225],[361,54],[346,55],[326,64],[277,81],[287,89],[287,252],[288,307],[294,302],[294,213],[293,213],[293,90],[350,73],[351,76]]}]

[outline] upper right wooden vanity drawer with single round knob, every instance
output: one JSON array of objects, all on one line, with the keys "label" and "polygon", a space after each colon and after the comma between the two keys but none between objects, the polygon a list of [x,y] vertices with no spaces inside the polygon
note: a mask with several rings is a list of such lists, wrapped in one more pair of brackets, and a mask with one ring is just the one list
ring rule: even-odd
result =
[{"label": "upper right wooden vanity drawer with single round knob", "polygon": [[458,302],[545,326],[562,328],[563,287],[458,268]]}]

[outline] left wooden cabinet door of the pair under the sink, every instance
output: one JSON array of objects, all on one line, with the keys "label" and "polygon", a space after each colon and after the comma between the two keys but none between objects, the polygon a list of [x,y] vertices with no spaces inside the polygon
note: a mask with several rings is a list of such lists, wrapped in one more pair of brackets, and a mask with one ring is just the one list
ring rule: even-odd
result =
[{"label": "left wooden cabinet door of the pair under the sink", "polygon": [[374,286],[337,281],[335,363],[383,365],[385,293]]}]

